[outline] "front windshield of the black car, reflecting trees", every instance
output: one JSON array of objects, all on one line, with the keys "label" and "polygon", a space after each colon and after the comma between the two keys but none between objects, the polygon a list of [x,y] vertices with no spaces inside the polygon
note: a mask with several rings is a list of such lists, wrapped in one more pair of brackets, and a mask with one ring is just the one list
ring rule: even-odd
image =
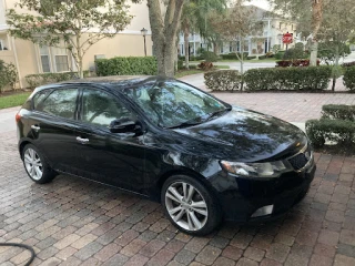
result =
[{"label": "front windshield of the black car, reflecting trees", "polygon": [[149,83],[125,89],[123,93],[133,100],[151,121],[162,127],[203,123],[230,110],[230,106],[211,95],[179,81]]}]

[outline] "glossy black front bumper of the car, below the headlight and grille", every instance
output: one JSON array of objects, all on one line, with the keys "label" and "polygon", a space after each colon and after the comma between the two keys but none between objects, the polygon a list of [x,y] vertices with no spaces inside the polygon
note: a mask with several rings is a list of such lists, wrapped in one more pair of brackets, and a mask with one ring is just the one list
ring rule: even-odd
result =
[{"label": "glossy black front bumper of the car, below the headlight and grille", "polygon": [[[307,194],[315,171],[316,166],[312,162],[302,172],[290,172],[265,181],[240,178],[229,174],[227,180],[233,180],[234,188],[231,186],[230,190],[219,193],[224,218],[245,223],[273,219],[286,213]],[[271,214],[255,217],[257,209],[271,205]],[[270,212],[270,207],[266,209]]]}]

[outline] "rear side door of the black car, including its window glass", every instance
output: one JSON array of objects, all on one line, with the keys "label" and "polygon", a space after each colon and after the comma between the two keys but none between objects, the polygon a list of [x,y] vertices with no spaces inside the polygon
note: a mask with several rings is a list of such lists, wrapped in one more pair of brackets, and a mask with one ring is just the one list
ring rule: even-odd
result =
[{"label": "rear side door of the black car, including its window glass", "polygon": [[54,170],[75,174],[75,126],[79,90],[47,89],[33,99],[30,137]]}]

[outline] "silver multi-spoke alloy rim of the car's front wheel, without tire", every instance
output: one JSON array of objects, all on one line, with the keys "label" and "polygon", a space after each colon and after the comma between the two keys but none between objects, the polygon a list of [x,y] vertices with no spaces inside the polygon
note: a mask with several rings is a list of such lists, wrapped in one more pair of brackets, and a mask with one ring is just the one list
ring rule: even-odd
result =
[{"label": "silver multi-spoke alloy rim of the car's front wheel, without tire", "polygon": [[172,183],[165,192],[165,206],[170,217],[186,231],[200,231],[209,218],[202,194],[185,182]]}]

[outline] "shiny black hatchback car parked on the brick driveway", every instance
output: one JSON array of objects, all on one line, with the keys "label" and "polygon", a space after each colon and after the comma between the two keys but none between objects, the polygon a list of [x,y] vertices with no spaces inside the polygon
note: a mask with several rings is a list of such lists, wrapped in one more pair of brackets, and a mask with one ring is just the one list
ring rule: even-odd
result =
[{"label": "shiny black hatchback car parked on the brick driveway", "polygon": [[315,163],[296,126],[159,76],[77,80],[34,90],[16,116],[36,183],[58,173],[160,201],[181,231],[264,221],[307,193]]}]

